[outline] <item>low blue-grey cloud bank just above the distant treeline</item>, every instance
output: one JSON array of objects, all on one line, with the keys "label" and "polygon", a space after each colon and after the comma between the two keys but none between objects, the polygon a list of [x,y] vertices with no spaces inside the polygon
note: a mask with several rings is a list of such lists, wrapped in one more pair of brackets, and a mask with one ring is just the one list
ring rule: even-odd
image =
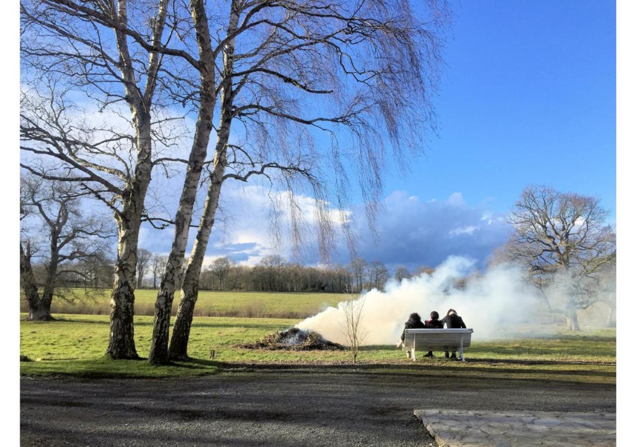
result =
[{"label": "low blue-grey cloud bank just above the distant treeline", "polygon": [[[422,265],[436,266],[448,256],[457,255],[474,259],[483,268],[492,251],[506,242],[509,231],[503,214],[492,212],[485,204],[467,205],[460,193],[454,193],[445,200],[422,200],[404,191],[394,191],[385,199],[378,214],[375,240],[366,220],[360,218],[364,216],[362,207],[356,207],[353,216],[359,234],[359,254],[368,261],[379,259],[389,267],[404,265],[415,269]],[[245,216],[239,220],[243,220],[242,217]],[[273,244],[266,244],[262,237],[254,242],[232,243],[239,240],[241,228],[254,229],[256,223],[260,223],[259,227],[263,226],[259,232],[266,233],[265,214],[252,215],[247,220],[249,222],[237,222],[234,230],[226,229],[223,237],[219,236],[219,228],[207,256],[229,256],[237,262],[254,263],[263,256],[278,252],[293,260],[286,244],[274,250]],[[172,228],[146,231],[144,248],[154,252],[169,251]],[[191,231],[190,236],[191,241],[194,240],[195,231]],[[245,240],[244,237],[240,239]],[[189,245],[191,247],[191,243]],[[350,254],[342,237],[338,238],[336,246],[333,261],[349,263]],[[304,255],[305,263],[319,261],[315,242],[307,241]]]}]

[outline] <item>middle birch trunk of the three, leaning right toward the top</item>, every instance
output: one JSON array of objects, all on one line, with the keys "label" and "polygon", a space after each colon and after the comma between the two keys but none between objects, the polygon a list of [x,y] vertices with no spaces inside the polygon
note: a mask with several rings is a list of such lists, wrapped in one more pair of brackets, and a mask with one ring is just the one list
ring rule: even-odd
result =
[{"label": "middle birch trunk of the three, leaning right toward the top", "polygon": [[153,338],[150,345],[148,361],[153,364],[169,362],[168,337],[170,329],[170,311],[176,289],[179,272],[188,244],[188,231],[192,221],[192,210],[197,198],[197,184],[207,156],[207,145],[212,132],[212,115],[216,102],[214,56],[209,35],[204,3],[193,0],[190,3],[191,16],[197,31],[197,43],[201,60],[204,62],[200,71],[200,100],[195,136],[188,160],[186,178],[179,199],[179,207],[174,219],[174,240],[168,256],[159,292],[155,301],[155,320],[153,322]]}]

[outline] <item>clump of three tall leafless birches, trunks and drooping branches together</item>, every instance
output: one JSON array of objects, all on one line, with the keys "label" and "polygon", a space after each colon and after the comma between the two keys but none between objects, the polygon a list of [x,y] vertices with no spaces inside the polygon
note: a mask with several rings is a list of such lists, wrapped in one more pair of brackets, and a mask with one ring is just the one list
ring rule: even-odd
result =
[{"label": "clump of three tall leafless birches, trunks and drooping branches together", "polygon": [[[107,348],[114,358],[137,357],[132,315],[139,225],[161,222],[148,216],[145,203],[153,167],[186,165],[177,213],[163,221],[174,224],[174,240],[149,353],[149,361],[163,363],[179,279],[183,306],[170,352],[186,355],[190,310],[223,182],[261,177],[282,193],[277,197],[287,199],[296,251],[307,227],[298,197],[312,196],[314,234],[325,258],[334,244],[333,205],[355,251],[345,211],[349,178],[359,182],[373,226],[387,156],[408,166],[435,128],[445,1],[24,0],[21,6],[29,86],[22,149],[33,156],[24,167],[50,177],[32,162],[57,160],[67,170],[61,177],[111,207],[118,223]],[[126,130],[107,120],[82,120],[81,109],[90,107],[71,100],[78,93],[95,111],[120,117]],[[158,157],[158,149],[172,148],[181,137],[169,125],[175,119],[170,107],[177,105],[196,116],[190,153]],[[206,162],[212,130],[214,155]],[[204,210],[180,277],[205,167]]]}]

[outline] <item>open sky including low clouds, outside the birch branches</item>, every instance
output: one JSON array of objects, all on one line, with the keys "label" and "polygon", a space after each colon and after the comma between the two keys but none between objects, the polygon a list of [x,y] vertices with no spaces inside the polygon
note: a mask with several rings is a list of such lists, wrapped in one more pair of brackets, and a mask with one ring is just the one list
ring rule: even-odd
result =
[{"label": "open sky including low clouds, outside the birch branches", "polygon": [[[438,135],[410,173],[389,173],[378,238],[361,219],[360,254],[389,266],[434,266],[453,254],[484,266],[508,237],[507,210],[532,183],[596,195],[614,223],[615,15],[609,1],[454,2]],[[216,226],[209,259],[289,258],[286,241],[268,235],[262,191],[224,191],[232,224]],[[359,204],[353,212],[363,214]],[[145,228],[140,245],[167,252],[171,237]],[[308,243],[305,261],[314,253]],[[343,244],[334,260],[349,261]]]}]

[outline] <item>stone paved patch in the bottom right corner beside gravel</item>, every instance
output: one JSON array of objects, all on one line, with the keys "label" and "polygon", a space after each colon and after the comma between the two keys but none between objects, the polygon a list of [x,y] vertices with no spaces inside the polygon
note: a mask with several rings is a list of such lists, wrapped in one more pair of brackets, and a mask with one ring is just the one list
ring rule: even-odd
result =
[{"label": "stone paved patch in the bottom right corner beside gravel", "polygon": [[616,413],[416,409],[440,447],[615,446]]}]

